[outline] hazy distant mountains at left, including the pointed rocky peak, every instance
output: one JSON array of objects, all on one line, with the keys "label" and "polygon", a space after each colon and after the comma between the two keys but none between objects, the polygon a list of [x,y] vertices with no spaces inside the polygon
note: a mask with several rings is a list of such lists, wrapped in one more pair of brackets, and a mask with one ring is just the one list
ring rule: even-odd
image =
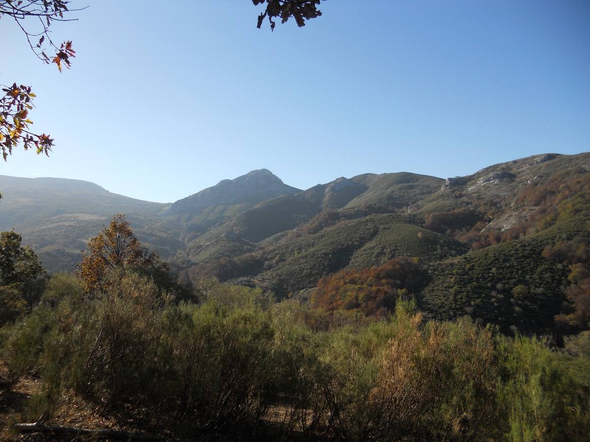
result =
[{"label": "hazy distant mountains at left, including the pointed rocky peak", "polygon": [[210,226],[262,200],[300,192],[266,169],[223,180],[173,204],[137,200],[94,183],[59,178],[0,176],[0,190],[0,229],[21,233],[50,272],[73,271],[87,240],[115,213],[125,213],[137,237],[171,259]]}]

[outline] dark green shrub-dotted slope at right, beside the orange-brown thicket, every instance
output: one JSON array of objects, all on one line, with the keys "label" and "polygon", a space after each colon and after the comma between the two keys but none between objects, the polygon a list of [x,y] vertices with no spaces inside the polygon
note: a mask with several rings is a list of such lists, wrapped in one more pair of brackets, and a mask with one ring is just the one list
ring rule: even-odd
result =
[{"label": "dark green shrub-dotted slope at right, beside the orange-brown thicket", "polygon": [[[537,235],[490,246],[433,263],[420,305],[432,317],[471,315],[504,331],[555,330],[553,317],[565,301],[568,268],[543,250],[565,238],[584,235],[584,220],[554,226]],[[515,293],[519,286],[526,290]]]}]

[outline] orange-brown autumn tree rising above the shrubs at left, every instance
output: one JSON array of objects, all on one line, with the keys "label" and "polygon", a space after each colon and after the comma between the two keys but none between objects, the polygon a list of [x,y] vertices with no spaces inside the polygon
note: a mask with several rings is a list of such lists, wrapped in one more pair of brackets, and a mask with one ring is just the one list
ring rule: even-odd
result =
[{"label": "orange-brown autumn tree rising above the shrubs at left", "polygon": [[90,239],[86,249],[76,272],[89,292],[104,291],[108,277],[116,270],[132,269],[154,279],[168,274],[168,264],[162,262],[158,252],[149,253],[142,246],[126,216],[120,213],[113,216],[109,227]]}]

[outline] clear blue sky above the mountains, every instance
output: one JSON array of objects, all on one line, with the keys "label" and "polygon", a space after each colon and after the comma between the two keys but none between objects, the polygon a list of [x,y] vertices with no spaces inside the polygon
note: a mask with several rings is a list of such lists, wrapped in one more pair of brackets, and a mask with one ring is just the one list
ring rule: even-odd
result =
[{"label": "clear blue sky above the mountains", "polygon": [[74,0],[60,74],[0,20],[0,83],[30,84],[49,158],[0,174],[89,180],[172,202],[266,167],[306,189],[340,176],[447,177],[590,150],[590,2],[326,0],[256,29],[250,0]]}]

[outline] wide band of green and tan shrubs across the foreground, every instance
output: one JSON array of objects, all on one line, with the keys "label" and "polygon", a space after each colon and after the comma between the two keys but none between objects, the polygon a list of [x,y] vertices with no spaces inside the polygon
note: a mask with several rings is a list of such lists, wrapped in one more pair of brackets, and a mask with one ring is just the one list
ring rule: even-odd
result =
[{"label": "wide band of green and tan shrubs across the foreground", "polygon": [[0,333],[4,388],[41,380],[13,421],[76,422],[76,405],[89,421],[184,438],[552,441],[590,430],[588,359],[466,318],[425,321],[408,301],[326,332],[306,306],[259,289],[204,281],[200,302],[175,302],[133,273],[93,299],[71,276],[50,287]]}]

